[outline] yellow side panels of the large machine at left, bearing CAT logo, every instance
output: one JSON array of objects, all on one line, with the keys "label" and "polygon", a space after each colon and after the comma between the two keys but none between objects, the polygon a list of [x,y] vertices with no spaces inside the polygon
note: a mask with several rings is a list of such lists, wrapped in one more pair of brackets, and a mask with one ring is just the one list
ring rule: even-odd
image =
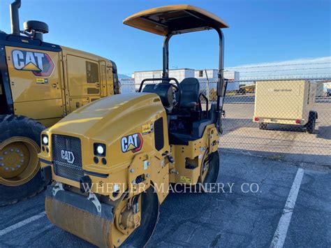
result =
[{"label": "yellow side panels of the large machine at left, bearing CAT logo", "polygon": [[[44,75],[34,73],[40,71],[34,65],[38,66],[40,54],[51,67]],[[6,46],[6,61],[13,113],[44,126],[82,105],[115,94],[118,88],[112,61],[80,50],[61,47],[60,52],[52,52]]]}]

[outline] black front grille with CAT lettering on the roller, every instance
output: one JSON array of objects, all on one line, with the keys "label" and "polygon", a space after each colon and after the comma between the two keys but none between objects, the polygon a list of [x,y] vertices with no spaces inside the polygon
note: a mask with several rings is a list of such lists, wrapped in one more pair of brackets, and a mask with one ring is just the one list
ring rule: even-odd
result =
[{"label": "black front grille with CAT lettering on the roller", "polygon": [[52,135],[54,173],[79,182],[82,170],[82,147],[80,139],[71,136]]}]

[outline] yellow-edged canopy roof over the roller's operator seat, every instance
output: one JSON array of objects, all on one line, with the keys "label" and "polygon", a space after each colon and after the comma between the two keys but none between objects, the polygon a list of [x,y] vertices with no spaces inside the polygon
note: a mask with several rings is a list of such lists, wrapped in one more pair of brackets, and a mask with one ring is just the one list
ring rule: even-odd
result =
[{"label": "yellow-edged canopy roof over the roller's operator seat", "polygon": [[228,24],[216,15],[191,5],[144,10],[127,17],[123,23],[161,36],[228,27]]}]

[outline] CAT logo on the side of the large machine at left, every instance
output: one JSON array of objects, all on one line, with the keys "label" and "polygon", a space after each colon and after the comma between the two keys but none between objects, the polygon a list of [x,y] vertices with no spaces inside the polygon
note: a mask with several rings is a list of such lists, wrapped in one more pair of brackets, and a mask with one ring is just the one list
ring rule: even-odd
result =
[{"label": "CAT logo on the side of the large machine at left", "polygon": [[49,77],[54,69],[50,55],[43,52],[13,50],[13,66],[19,71],[32,71],[36,76]]}]

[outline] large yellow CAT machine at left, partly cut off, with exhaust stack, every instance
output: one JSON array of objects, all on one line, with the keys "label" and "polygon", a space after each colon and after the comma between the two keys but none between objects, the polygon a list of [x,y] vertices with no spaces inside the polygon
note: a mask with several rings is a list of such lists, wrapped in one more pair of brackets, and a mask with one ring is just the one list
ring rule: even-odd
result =
[{"label": "large yellow CAT machine at left, partly cut off, with exhaust stack", "polygon": [[10,5],[11,34],[0,31],[0,206],[45,188],[38,153],[41,131],[69,112],[119,93],[116,64],[43,41],[47,24],[24,22]]}]

